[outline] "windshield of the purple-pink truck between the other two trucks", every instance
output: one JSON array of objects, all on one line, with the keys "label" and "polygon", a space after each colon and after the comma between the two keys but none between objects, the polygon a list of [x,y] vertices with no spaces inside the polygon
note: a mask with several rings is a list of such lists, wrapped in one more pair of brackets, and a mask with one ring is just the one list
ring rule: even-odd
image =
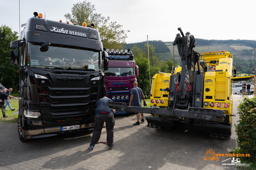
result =
[{"label": "windshield of the purple-pink truck between the other two trucks", "polygon": [[106,76],[132,76],[135,75],[134,67],[108,67],[104,72]]}]

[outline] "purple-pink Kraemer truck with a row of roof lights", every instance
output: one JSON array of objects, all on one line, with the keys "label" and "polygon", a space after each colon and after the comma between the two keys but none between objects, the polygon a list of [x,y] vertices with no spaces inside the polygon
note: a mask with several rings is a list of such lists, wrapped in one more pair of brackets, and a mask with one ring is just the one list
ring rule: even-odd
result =
[{"label": "purple-pink Kraemer truck with a row of roof lights", "polygon": [[[128,50],[106,49],[108,53],[108,70],[104,71],[106,97],[113,102],[129,104],[131,89],[136,77],[139,75],[138,66],[135,64],[134,55]],[[118,114],[129,114],[130,112],[116,111]]]}]

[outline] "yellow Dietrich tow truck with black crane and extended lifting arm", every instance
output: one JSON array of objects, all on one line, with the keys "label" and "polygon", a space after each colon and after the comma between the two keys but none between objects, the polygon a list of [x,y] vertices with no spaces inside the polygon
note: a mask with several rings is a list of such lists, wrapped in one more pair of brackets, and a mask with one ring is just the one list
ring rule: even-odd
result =
[{"label": "yellow Dietrich tow truck with black crane and extended lifting arm", "polygon": [[[194,36],[178,30],[181,35],[176,35],[173,45],[178,47],[182,69],[169,75],[169,88],[164,89],[166,94],[168,92],[168,105],[146,108],[108,102],[107,106],[120,111],[158,115],[146,117],[148,127],[176,127],[182,123],[183,127],[206,131],[212,137],[230,139],[231,116],[235,116],[232,115],[232,55],[227,52],[218,59],[202,59],[200,53],[193,50],[196,46]],[[209,66],[213,63],[216,70],[210,72]],[[159,100],[163,96],[153,97]]]}]

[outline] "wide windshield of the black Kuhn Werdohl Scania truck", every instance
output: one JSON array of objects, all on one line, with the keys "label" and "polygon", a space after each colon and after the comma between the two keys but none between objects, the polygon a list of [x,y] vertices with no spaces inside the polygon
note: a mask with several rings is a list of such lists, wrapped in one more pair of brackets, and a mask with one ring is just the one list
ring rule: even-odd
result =
[{"label": "wide windshield of the black Kuhn Werdohl Scania truck", "polygon": [[101,52],[82,47],[28,43],[27,66],[102,70]]}]

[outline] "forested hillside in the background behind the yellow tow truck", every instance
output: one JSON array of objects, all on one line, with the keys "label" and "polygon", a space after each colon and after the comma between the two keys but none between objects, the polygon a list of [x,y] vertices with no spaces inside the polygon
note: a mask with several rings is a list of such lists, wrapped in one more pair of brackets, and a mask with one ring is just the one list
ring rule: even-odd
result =
[{"label": "forested hillside in the background behind the yellow tow truck", "polygon": [[[131,49],[133,45],[144,48],[145,42],[126,44],[126,47]],[[150,45],[154,45],[155,53],[160,61],[173,61],[173,51],[175,56],[175,63],[181,64],[180,56],[178,54],[177,46],[172,42],[162,41],[148,41]],[[166,50],[166,48],[168,50]],[[253,40],[206,40],[196,39],[195,51],[210,52],[210,51],[229,51],[233,55],[233,66],[236,67],[238,74],[254,74],[254,50],[256,48],[256,41]]]}]

